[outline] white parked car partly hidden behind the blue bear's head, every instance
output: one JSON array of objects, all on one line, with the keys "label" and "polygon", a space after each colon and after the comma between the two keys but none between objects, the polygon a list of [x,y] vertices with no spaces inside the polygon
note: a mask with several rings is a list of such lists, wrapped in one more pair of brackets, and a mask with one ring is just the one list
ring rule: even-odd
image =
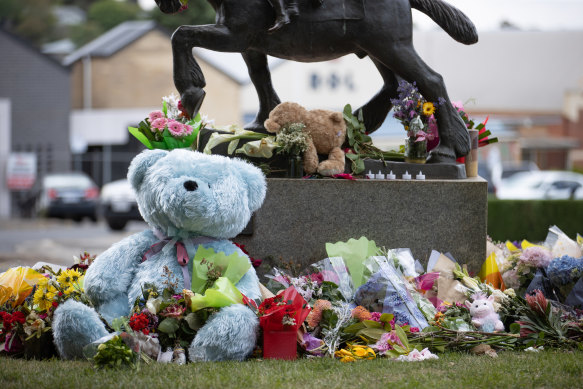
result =
[{"label": "white parked car partly hidden behind the blue bear's head", "polygon": [[142,220],[136,194],[128,180],[112,181],[101,188],[101,216],[109,228],[123,230],[129,221]]}]

